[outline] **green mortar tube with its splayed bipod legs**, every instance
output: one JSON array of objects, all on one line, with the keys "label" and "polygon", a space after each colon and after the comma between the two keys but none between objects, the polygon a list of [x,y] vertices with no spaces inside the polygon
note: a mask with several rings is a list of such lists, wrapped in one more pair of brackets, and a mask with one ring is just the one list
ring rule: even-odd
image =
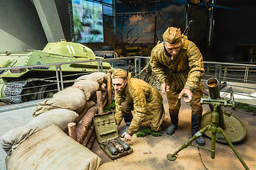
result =
[{"label": "green mortar tube with its splayed bipod legs", "polygon": [[[198,148],[206,149],[206,150],[210,151],[211,152],[210,157],[212,159],[214,159],[215,158],[216,134],[217,134],[217,132],[220,132],[221,135],[223,136],[223,138],[228,142],[228,145],[230,145],[231,149],[233,149],[233,152],[235,152],[235,155],[240,160],[242,166],[244,166],[245,169],[248,170],[249,169],[248,166],[245,164],[242,157],[240,157],[240,154],[235,149],[232,142],[230,142],[227,135],[225,135],[224,130],[218,126],[219,125],[219,116],[220,116],[220,114],[218,113],[218,107],[220,107],[220,106],[233,106],[234,107],[235,106],[235,101],[232,101],[230,103],[230,98],[232,98],[231,97],[232,95],[228,99],[221,99],[220,98],[220,95],[218,95],[218,93],[220,93],[220,91],[219,91],[219,87],[218,87],[219,84],[218,84],[217,79],[210,78],[210,79],[207,80],[206,83],[207,83],[208,89],[209,89],[209,97],[208,98],[201,98],[201,103],[210,104],[211,106],[213,106],[213,111],[210,112],[211,125],[206,125],[204,128],[202,128],[201,130],[196,132],[196,134],[193,135],[193,137],[190,140],[188,140],[187,142],[184,142],[183,145],[178,150],[176,150],[176,152],[174,152],[174,154],[167,154],[166,157],[167,157],[168,160],[174,161],[174,160],[176,160],[176,156],[178,156],[178,152],[180,152],[182,149],[184,149],[184,148],[186,148],[190,145],[190,146],[193,146],[193,147],[198,147]],[[211,89],[212,87],[214,89]],[[226,129],[228,128],[227,125],[225,125],[225,128]],[[211,135],[211,138],[212,138],[211,148],[200,147],[200,146],[196,146],[196,145],[191,144],[193,142],[193,140],[196,140],[198,137],[205,134],[205,132],[207,130],[210,131],[211,134],[212,134]]]}]

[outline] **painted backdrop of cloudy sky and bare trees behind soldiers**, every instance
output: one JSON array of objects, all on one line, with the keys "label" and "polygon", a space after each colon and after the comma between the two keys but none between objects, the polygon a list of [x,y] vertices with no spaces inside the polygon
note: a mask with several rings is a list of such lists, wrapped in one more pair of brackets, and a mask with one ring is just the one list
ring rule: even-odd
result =
[{"label": "painted backdrop of cloudy sky and bare trees behind soldiers", "polygon": [[143,55],[150,55],[154,42],[162,40],[166,28],[184,27],[184,8],[182,4],[172,3],[157,3],[154,6],[117,4],[118,46],[123,53],[127,47],[142,47],[149,50],[144,50]]}]

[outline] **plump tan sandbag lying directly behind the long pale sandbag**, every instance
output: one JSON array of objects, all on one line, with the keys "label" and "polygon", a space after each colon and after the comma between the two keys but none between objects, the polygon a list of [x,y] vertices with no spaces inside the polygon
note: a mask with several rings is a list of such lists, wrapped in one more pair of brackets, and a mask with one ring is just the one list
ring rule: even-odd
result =
[{"label": "plump tan sandbag lying directly behind the long pale sandbag", "polygon": [[65,108],[70,111],[79,113],[85,108],[86,98],[83,91],[75,87],[68,87],[63,91],[59,91],[46,101],[41,101],[33,112],[33,117],[40,115],[54,108]]}]

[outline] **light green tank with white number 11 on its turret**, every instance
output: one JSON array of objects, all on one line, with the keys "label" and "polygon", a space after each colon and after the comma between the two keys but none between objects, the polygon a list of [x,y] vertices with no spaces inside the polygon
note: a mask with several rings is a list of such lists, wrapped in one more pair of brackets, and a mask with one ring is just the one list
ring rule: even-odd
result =
[{"label": "light green tank with white number 11 on its turret", "polygon": [[[0,54],[0,67],[22,67],[40,64],[97,60],[90,48],[76,42],[48,42],[43,50],[30,52],[4,52]],[[97,62],[62,64],[61,71],[65,86],[73,84],[78,73],[98,71]],[[102,62],[103,71],[111,69],[108,62]],[[68,75],[73,76],[68,76]],[[76,75],[75,75],[76,74]],[[6,103],[21,103],[53,96],[57,91],[55,65],[22,69],[0,70],[0,99]]]}]

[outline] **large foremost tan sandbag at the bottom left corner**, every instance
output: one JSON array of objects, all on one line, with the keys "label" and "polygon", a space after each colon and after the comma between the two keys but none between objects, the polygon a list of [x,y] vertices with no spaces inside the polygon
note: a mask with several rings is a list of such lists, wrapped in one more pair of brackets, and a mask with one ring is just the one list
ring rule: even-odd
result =
[{"label": "large foremost tan sandbag at the bottom left corner", "polygon": [[52,125],[19,145],[6,161],[6,167],[8,170],[95,170],[100,162],[100,157]]}]

